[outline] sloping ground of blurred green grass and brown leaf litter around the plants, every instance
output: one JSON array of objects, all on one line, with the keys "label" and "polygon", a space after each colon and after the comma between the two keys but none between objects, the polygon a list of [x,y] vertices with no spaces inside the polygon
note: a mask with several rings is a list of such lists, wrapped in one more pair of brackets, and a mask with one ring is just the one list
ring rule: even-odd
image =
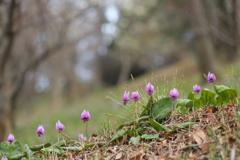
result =
[{"label": "sloping ground of blurred green grass and brown leaf litter around the plants", "polygon": [[[240,66],[236,64],[234,71],[240,73]],[[177,70],[176,70],[177,69]],[[232,77],[232,67],[221,69],[221,80],[217,84],[229,84]],[[60,108],[52,107],[50,100],[39,99],[35,108],[26,112],[19,110],[17,130],[14,133],[21,144],[37,144],[40,139],[33,136],[39,124],[46,129],[45,142],[56,142],[57,132],[54,132],[55,123],[61,120],[66,126],[69,141],[62,146],[72,147],[61,154],[50,154],[47,159],[240,159],[240,132],[239,132],[239,106],[237,103],[225,107],[210,105],[188,114],[175,114],[173,119],[162,124],[172,129],[174,125],[196,122],[191,127],[179,127],[174,132],[158,131],[158,136],[152,130],[144,134],[153,135],[154,138],[142,138],[135,145],[130,142],[132,135],[119,136],[114,141],[110,140],[116,135],[116,126],[132,119],[132,112],[122,107],[121,97],[124,90],[144,92],[148,82],[158,85],[158,93],[168,96],[169,89],[179,87],[181,97],[186,97],[192,90],[192,85],[201,84],[201,77],[197,72],[197,64],[192,59],[186,59],[174,65],[162,68],[153,73],[146,74],[132,82],[117,87],[101,89],[90,96],[74,102],[66,101]],[[239,76],[239,74],[237,75]],[[203,86],[211,87],[204,84]],[[234,84],[230,83],[230,87]],[[162,93],[163,92],[163,93]],[[238,90],[239,93],[239,90]],[[239,95],[239,94],[238,94]],[[107,96],[107,98],[105,98]],[[146,100],[146,99],[145,99]],[[82,110],[91,113],[89,122],[88,143],[75,141],[79,133],[83,133],[84,126],[80,122]],[[46,112],[47,110],[47,112]],[[107,116],[106,116],[107,115]],[[119,117],[127,117],[121,119]],[[78,122],[79,121],[79,122]],[[111,121],[111,123],[109,122]],[[73,123],[74,122],[74,123]],[[26,125],[27,124],[27,125]],[[133,126],[125,126],[132,129]],[[24,136],[26,133],[31,136]],[[154,134],[155,133],[155,134]],[[66,139],[66,138],[65,138]],[[71,139],[71,140],[70,140]],[[94,144],[94,145],[92,145]],[[74,148],[75,147],[75,148]],[[78,149],[76,150],[76,147]],[[82,148],[79,150],[79,147]],[[83,149],[84,148],[84,149]],[[36,155],[38,157],[39,155]]]}]

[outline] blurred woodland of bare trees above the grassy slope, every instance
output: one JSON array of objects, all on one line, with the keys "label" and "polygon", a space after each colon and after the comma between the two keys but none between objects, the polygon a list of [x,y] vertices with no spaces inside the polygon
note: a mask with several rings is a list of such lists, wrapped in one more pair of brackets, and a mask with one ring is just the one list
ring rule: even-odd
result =
[{"label": "blurred woodland of bare trees above the grassy slope", "polygon": [[199,74],[217,73],[240,55],[239,9],[237,0],[0,0],[0,141],[17,108],[31,114],[42,93],[58,109],[188,57]]}]

